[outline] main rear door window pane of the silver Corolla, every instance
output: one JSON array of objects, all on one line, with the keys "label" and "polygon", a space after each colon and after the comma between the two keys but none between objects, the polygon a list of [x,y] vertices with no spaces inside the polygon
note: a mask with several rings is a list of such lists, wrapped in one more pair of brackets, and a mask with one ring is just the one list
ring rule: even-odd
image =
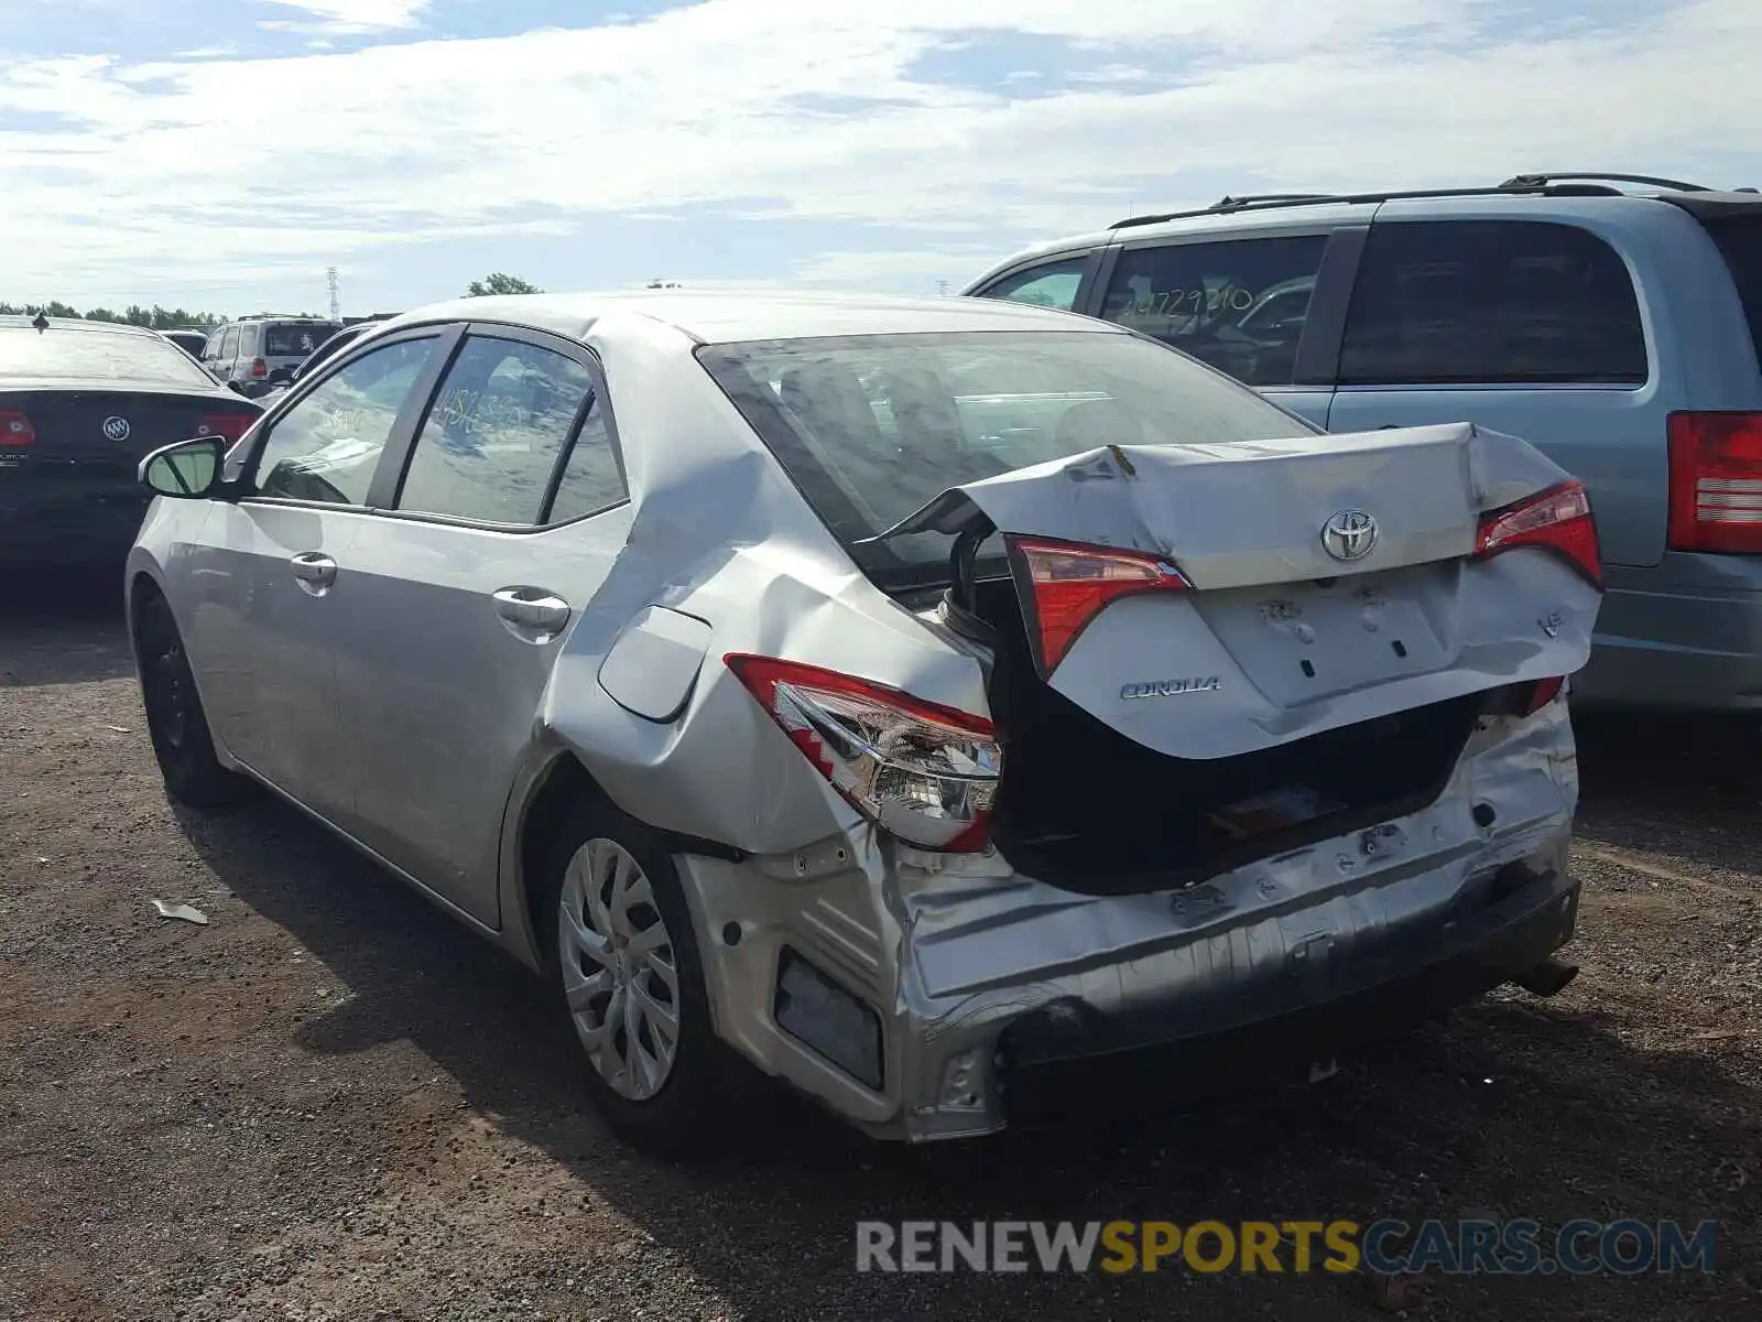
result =
[{"label": "main rear door window pane of the silver Corolla", "polygon": [[486,524],[537,524],[594,377],[520,340],[465,340],[416,437],[398,509]]}]

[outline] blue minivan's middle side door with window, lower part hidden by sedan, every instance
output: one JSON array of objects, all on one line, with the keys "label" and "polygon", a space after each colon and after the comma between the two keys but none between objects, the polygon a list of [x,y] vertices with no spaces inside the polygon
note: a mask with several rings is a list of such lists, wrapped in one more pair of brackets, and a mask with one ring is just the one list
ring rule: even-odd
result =
[{"label": "blue minivan's middle side door with window, lower part hidden by sedan", "polygon": [[1332,363],[1318,351],[1336,331],[1314,314],[1329,307],[1325,268],[1341,263],[1330,249],[1350,257],[1355,234],[1311,227],[1128,241],[1103,263],[1094,312],[1325,427]]}]

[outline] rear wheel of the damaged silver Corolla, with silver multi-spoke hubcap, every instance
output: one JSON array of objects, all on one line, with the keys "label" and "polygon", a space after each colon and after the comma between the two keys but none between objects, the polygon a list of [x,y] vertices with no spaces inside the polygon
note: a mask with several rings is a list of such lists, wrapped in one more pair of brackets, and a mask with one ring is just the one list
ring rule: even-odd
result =
[{"label": "rear wheel of the damaged silver Corolla, with silver multi-spoke hubcap", "polygon": [[733,1052],[715,1036],[678,871],[610,804],[571,816],[544,855],[536,924],[611,1130],[663,1158],[701,1156],[726,1126]]}]

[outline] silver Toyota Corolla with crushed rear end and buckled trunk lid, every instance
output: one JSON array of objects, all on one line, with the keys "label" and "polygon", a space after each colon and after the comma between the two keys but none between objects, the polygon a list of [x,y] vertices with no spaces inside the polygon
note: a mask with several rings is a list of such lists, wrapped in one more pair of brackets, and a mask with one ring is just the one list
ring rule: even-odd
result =
[{"label": "silver Toyota Corolla with crushed rear end and buckled trunk lid", "polygon": [[1045,308],[546,294],[143,481],[173,797],[266,784],[546,975],[633,1140],[751,1066],[981,1135],[1572,973],[1602,571],[1519,439]]}]

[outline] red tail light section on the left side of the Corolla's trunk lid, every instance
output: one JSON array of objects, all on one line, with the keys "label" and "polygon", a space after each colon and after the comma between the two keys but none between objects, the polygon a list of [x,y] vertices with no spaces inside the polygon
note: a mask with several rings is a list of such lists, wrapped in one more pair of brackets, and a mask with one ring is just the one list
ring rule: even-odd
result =
[{"label": "red tail light section on the left side of the Corolla's trunk lid", "polygon": [[1105,606],[1142,592],[1184,592],[1186,576],[1158,555],[1010,538],[1018,578],[1031,589],[1027,638],[1034,665],[1050,675]]}]

